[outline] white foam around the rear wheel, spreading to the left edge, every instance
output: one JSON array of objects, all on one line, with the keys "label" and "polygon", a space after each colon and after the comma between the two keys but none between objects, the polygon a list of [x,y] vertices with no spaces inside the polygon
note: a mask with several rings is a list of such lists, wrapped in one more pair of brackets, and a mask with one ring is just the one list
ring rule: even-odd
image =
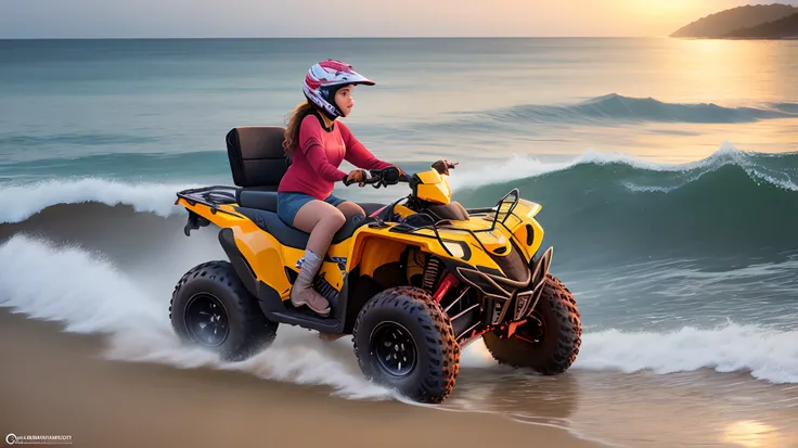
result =
[{"label": "white foam around the rear wheel, spreading to the left edge", "polygon": [[283,325],[269,349],[245,362],[224,363],[213,354],[181,346],[168,320],[171,287],[160,296],[145,294],[146,289],[98,255],[15,235],[0,246],[0,307],[59,321],[67,332],[106,334],[106,356],[112,359],[239,370],[269,380],[327,385],[349,398],[392,397],[362,376],[353,355],[342,356],[351,354],[350,338],[324,343],[314,333]]}]

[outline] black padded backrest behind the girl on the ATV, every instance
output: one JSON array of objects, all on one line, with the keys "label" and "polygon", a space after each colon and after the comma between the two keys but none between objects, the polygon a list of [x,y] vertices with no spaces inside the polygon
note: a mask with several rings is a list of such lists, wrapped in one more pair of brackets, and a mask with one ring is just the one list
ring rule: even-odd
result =
[{"label": "black padded backrest behind the girl on the ATV", "polygon": [[239,187],[274,187],[291,165],[279,126],[240,126],[227,135],[233,182]]}]

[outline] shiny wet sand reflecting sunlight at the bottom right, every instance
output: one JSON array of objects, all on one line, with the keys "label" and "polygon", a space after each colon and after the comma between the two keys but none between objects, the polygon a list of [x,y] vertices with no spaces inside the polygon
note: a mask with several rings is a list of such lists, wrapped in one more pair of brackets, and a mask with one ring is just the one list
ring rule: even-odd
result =
[{"label": "shiny wet sand reflecting sunlight at the bottom right", "polygon": [[[489,361],[486,361],[488,363]],[[461,370],[446,407],[550,424],[629,448],[798,448],[798,386],[711,369],[658,374],[587,370],[524,376]]]}]

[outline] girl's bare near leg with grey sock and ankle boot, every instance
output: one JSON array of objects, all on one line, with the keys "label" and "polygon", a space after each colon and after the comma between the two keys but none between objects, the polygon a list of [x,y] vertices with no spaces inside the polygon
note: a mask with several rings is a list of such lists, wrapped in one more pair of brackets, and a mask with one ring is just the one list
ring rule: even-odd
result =
[{"label": "girl's bare near leg with grey sock and ankle boot", "polygon": [[344,214],[323,201],[310,201],[303,205],[294,217],[294,227],[310,233],[305,251],[305,261],[291,291],[294,306],[307,305],[322,316],[330,313],[330,303],[313,290],[313,278],[330,248],[330,243],[338,229],[344,226]]}]

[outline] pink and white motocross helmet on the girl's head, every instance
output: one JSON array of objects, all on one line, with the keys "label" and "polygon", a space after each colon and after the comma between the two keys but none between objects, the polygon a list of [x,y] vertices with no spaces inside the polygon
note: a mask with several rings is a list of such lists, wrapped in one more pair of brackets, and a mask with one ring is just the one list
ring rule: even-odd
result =
[{"label": "pink and white motocross helmet on the girl's head", "polygon": [[344,86],[363,84],[374,86],[375,82],[355,72],[352,66],[336,60],[326,60],[314,64],[305,75],[303,90],[308,100],[326,113],[330,119],[344,114],[335,105],[335,92]]}]

